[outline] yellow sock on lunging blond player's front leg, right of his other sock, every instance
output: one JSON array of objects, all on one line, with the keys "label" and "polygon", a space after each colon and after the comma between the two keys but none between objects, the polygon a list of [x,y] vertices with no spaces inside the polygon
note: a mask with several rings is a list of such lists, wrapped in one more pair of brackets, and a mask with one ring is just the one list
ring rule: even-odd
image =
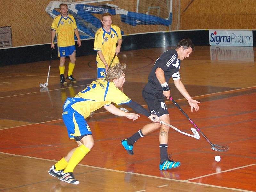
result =
[{"label": "yellow sock on lunging blond player's front leg, right of his other sock", "polygon": [[90,150],[84,145],[79,146],[71,156],[64,173],[73,172],[76,165],[84,158]]}]

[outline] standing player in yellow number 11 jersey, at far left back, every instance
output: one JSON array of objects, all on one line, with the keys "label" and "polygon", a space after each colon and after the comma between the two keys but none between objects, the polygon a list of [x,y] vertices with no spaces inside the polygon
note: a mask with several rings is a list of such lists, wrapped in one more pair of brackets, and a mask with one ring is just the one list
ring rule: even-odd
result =
[{"label": "standing player in yellow number 11 jersey, at far left back", "polygon": [[65,60],[66,56],[69,56],[70,62],[68,65],[68,75],[67,79],[71,82],[76,82],[76,79],[73,77],[73,70],[76,62],[76,48],[75,48],[75,39],[74,33],[77,37],[78,47],[81,46],[81,40],[79,32],[76,26],[75,18],[72,15],[68,15],[68,6],[67,4],[60,4],[60,15],[54,18],[51,26],[52,30],[52,41],[51,48],[54,49],[54,38],[57,36],[57,45],[58,45],[58,56],[60,57],[60,83],[67,84],[65,81]]}]

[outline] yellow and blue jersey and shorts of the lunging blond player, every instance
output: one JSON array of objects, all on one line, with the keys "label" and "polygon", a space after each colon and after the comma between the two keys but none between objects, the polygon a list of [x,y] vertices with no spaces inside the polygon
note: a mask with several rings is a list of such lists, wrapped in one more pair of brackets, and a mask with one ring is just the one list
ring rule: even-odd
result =
[{"label": "yellow and blue jersey and shorts of the lunging blond player", "polygon": [[92,134],[85,118],[90,112],[110,103],[125,104],[131,102],[113,82],[103,79],[93,81],[75,97],[67,98],[63,105],[63,121],[67,127],[69,138]]}]

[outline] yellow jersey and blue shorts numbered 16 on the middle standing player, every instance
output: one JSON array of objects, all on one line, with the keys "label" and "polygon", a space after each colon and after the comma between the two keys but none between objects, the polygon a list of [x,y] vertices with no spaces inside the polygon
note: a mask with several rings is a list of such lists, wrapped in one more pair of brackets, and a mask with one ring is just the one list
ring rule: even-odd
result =
[{"label": "yellow jersey and blue shorts numbered 16 on the middle standing player", "polygon": [[[121,30],[117,25],[111,25],[110,32],[105,31],[105,29],[101,27],[98,29],[98,31],[95,34],[93,50],[102,51],[102,54],[108,66],[115,55],[116,43],[118,39],[122,39],[122,35],[121,35]],[[97,73],[100,73],[100,71],[104,71],[105,73],[105,65],[100,60],[100,57],[98,54],[96,57],[96,61],[97,61]],[[116,63],[119,63],[117,56],[115,57],[112,63],[112,66],[115,65]],[[100,70],[100,69],[103,69],[103,70]],[[104,75],[105,74],[101,74],[100,77],[104,77]],[[98,78],[100,77],[98,74]]]}]

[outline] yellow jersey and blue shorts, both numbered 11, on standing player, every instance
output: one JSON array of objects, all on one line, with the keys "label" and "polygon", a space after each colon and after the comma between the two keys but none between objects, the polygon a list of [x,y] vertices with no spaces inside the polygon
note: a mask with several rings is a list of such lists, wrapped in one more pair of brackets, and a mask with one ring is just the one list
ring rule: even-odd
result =
[{"label": "yellow jersey and blue shorts, both numbered 11, on standing player", "polygon": [[72,15],[68,15],[67,18],[62,17],[61,14],[58,15],[54,18],[51,29],[56,31],[59,57],[69,56],[76,51],[74,30],[77,26]]}]

